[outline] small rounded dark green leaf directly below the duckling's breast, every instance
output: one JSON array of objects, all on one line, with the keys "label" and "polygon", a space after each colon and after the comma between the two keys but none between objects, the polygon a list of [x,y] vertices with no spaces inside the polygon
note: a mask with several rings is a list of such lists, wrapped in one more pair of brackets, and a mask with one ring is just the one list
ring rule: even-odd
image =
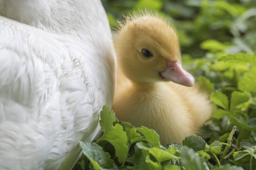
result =
[{"label": "small rounded dark green leaf directly below the duckling's breast", "polygon": [[205,141],[201,137],[197,137],[196,135],[190,135],[185,137],[185,139],[182,141],[183,146],[188,146],[190,148],[193,148],[194,151],[200,151],[204,150],[205,148]]}]

